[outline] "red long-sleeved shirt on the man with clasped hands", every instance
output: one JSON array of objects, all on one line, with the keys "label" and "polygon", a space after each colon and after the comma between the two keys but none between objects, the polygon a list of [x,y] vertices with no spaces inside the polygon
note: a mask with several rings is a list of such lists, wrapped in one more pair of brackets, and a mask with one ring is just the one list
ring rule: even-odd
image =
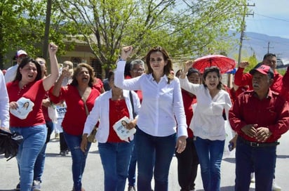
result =
[{"label": "red long-sleeved shirt on the man with clasped hands", "polygon": [[257,143],[255,137],[247,136],[241,130],[247,124],[257,124],[259,127],[267,127],[272,135],[266,140],[272,143],[281,137],[289,128],[289,107],[288,103],[275,93],[269,91],[267,98],[259,100],[255,97],[254,91],[246,91],[239,95],[233,107],[229,111],[231,128],[238,133],[238,136]]}]

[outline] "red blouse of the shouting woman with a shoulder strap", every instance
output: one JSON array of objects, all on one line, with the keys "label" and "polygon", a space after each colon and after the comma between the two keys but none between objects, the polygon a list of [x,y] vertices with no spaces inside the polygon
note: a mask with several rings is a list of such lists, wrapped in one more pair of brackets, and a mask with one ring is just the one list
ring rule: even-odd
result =
[{"label": "red blouse of the shouting woman with a shoulder strap", "polygon": [[[51,98],[51,101],[53,103],[60,103],[60,101],[65,100],[65,103],[67,105],[67,112],[65,113],[65,117],[61,124],[63,130],[73,136],[82,135],[87,115],[83,100],[81,100],[78,89],[76,88],[76,86],[72,85],[64,86],[60,89],[59,97],[54,96],[52,94],[52,90],[53,88],[51,88],[51,91],[49,92],[49,97]],[[98,95],[100,95],[100,92],[95,88],[91,88],[91,92],[86,100],[88,112],[93,109],[95,99],[98,98]]]}]

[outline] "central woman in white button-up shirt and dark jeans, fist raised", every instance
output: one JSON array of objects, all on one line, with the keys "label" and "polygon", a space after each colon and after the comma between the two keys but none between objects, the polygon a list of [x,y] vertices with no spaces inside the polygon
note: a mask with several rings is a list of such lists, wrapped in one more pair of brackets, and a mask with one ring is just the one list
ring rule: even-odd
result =
[{"label": "central woman in white button-up shirt and dark jeans, fist raised", "polygon": [[115,84],[123,89],[142,91],[142,106],[135,133],[137,190],[151,190],[154,173],[154,190],[166,191],[175,148],[177,152],[182,152],[186,146],[187,124],[180,81],[171,73],[172,61],[160,46],[147,53],[146,74],[124,79],[124,60],[132,51],[132,46],[123,47],[121,60],[117,63]]}]

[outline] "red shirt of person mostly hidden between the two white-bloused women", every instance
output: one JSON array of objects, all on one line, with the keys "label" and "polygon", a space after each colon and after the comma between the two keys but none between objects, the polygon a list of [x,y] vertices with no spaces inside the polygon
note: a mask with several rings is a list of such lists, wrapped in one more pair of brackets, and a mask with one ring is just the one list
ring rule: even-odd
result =
[{"label": "red shirt of person mostly hidden between the two white-bloused women", "polygon": [[188,137],[192,138],[194,133],[189,129],[189,124],[191,124],[191,118],[193,118],[194,114],[192,105],[196,103],[196,95],[191,96],[191,93],[182,89],[182,102],[184,103],[184,113],[186,114]]}]

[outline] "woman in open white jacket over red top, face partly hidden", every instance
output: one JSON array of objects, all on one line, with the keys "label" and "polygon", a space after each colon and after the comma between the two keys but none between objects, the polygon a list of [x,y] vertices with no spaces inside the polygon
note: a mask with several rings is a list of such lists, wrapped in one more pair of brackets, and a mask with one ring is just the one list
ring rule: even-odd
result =
[{"label": "woman in open white jacket over red top, face partly hidden", "polygon": [[[134,129],[140,109],[140,100],[137,93],[122,90],[114,85],[114,72],[109,72],[108,81],[110,90],[102,93],[96,100],[93,109],[86,119],[81,141],[81,150],[86,151],[88,146],[87,136],[93,131],[99,121],[98,132],[95,135],[98,140],[98,151],[105,175],[104,191],[124,190],[128,177],[128,165],[133,150],[133,136],[125,138],[114,131],[114,126],[123,123],[123,117],[129,118],[126,129]],[[132,100],[130,100],[132,99]],[[133,103],[133,105],[131,104]],[[116,129],[119,125],[116,126]],[[123,131],[124,129],[121,129]],[[123,131],[124,132],[124,131]],[[129,136],[130,133],[127,134]]]}]

